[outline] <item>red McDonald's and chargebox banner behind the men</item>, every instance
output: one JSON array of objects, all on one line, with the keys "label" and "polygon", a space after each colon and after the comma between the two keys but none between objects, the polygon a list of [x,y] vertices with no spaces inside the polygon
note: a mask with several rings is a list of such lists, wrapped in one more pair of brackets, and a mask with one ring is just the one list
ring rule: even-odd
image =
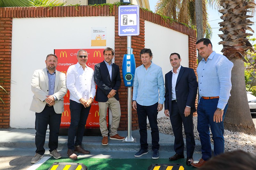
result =
[{"label": "red McDonald's and chargebox banner behind the men", "polygon": [[[58,57],[57,70],[67,75],[67,70],[70,65],[77,63],[77,52],[79,49],[54,49],[54,54]],[[88,52],[87,66],[94,70],[94,66],[104,60],[104,49],[85,49]],[[97,88],[97,86],[96,86]],[[68,128],[70,126],[70,109],[69,109],[69,91],[64,96],[64,112],[61,118],[61,128]],[[107,113],[108,121],[108,113]],[[108,122],[107,122],[108,125]],[[99,128],[99,106],[98,102],[94,101],[90,109],[90,113],[86,122],[87,128]]]}]

